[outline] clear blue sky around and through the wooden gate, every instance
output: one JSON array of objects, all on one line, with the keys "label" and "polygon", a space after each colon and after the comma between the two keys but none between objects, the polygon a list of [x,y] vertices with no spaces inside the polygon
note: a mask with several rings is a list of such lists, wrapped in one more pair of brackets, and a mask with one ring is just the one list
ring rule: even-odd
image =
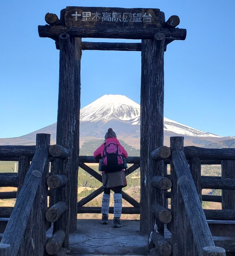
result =
[{"label": "clear blue sky around and through the wooden gate", "polygon": [[[37,25],[46,24],[47,12],[59,16],[66,6],[159,8],[166,19],[178,15],[187,38],[165,52],[164,116],[235,135],[234,0],[9,0],[0,9],[1,138],[57,121],[59,51],[52,39],[38,36]],[[140,82],[140,52],[83,52],[81,107],[103,94],[124,94],[140,103]]]}]

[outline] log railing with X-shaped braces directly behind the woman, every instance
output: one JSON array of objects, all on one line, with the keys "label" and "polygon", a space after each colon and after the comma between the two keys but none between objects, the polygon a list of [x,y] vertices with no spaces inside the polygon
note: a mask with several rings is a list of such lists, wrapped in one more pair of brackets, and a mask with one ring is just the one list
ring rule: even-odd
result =
[{"label": "log railing with X-shaped braces directly behind the woman", "polygon": [[[127,157],[126,159],[127,164],[133,164],[129,168],[127,168],[126,175],[130,175],[136,169],[140,167],[140,157]],[[94,178],[99,180],[102,185],[102,178],[97,171],[94,171],[90,166],[84,163],[99,163],[99,159],[96,159],[92,156],[79,156],[79,167],[82,168],[84,171],[92,175]],[[84,205],[90,202],[92,199],[96,198],[103,192],[103,186],[99,189],[96,189],[90,195],[82,198],[77,203],[77,213],[101,213],[101,207],[85,207]],[[123,199],[129,202],[133,207],[123,207],[122,213],[123,214],[139,214],[140,213],[140,203],[137,202],[134,198],[130,197],[122,191]],[[113,213],[113,207],[109,208],[109,213]]]}]

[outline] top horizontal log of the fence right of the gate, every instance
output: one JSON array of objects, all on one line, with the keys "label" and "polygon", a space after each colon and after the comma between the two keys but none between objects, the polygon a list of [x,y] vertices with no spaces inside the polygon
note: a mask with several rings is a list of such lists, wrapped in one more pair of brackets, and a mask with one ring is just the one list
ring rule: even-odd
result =
[{"label": "top horizontal log of the fence right of the gate", "polygon": [[235,160],[235,148],[199,148],[184,147],[184,154],[188,157],[199,157],[209,160]]}]

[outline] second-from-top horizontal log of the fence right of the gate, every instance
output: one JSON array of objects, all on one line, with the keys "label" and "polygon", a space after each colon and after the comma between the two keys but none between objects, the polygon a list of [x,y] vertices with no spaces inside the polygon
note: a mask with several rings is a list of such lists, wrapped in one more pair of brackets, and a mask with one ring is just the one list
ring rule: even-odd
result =
[{"label": "second-from-top horizontal log of the fence right of the gate", "polygon": [[202,177],[203,189],[235,189],[235,180],[225,179],[209,179]]}]

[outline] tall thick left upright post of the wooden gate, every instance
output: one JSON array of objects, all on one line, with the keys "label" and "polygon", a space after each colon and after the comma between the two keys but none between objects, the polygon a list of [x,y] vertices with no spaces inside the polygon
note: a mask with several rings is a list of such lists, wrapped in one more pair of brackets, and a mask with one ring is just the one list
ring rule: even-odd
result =
[{"label": "tall thick left upright post of the wooden gate", "polygon": [[[77,42],[77,40],[76,40]],[[54,231],[63,229],[66,234],[64,246],[68,247],[69,231],[76,231],[77,226],[77,170],[79,156],[79,110],[80,110],[80,72],[78,62],[81,55],[75,51],[74,40],[66,33],[59,35],[59,99],[57,115],[58,145],[67,148],[70,153],[67,159],[59,160],[59,173],[68,177],[68,184],[57,189],[56,202],[63,201],[68,211],[62,214],[55,223]],[[78,60],[79,58],[79,60]]]}]

